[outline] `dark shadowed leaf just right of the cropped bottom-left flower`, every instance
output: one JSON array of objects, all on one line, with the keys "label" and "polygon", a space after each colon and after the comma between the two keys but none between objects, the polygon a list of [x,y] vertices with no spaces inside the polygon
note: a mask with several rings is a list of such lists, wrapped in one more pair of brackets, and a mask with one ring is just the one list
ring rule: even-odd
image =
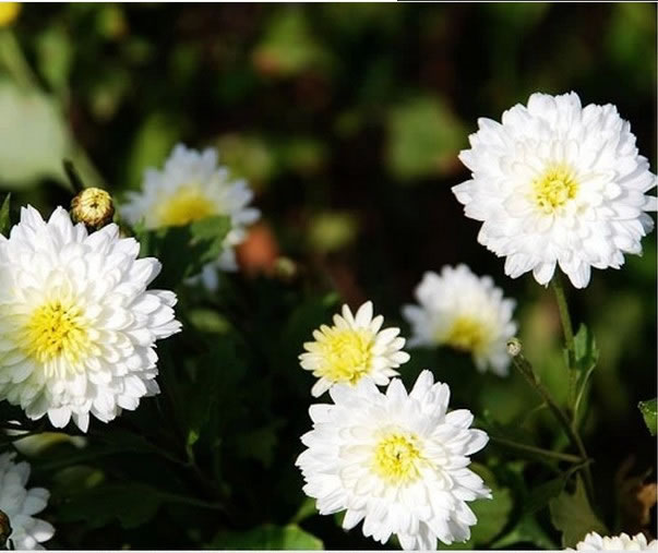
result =
[{"label": "dark shadowed leaf just right of the cropped bottom-left flower", "polygon": [[58,514],[64,522],[84,521],[101,528],[115,519],[123,528],[136,528],[151,520],[163,500],[157,490],[139,482],[100,484],[68,497]]}]

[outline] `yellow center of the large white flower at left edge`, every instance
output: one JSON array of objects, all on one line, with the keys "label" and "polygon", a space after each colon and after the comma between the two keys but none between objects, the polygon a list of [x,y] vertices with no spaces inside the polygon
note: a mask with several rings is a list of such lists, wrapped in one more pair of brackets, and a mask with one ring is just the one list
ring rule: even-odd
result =
[{"label": "yellow center of the large white flower at left edge", "polygon": [[40,363],[61,356],[69,364],[76,364],[91,348],[87,326],[82,310],[75,303],[48,301],[29,317],[25,350]]}]

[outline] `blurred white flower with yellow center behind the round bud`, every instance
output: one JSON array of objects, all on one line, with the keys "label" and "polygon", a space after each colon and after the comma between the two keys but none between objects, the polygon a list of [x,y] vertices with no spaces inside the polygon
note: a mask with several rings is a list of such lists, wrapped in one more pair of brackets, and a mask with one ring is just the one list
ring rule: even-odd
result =
[{"label": "blurred white flower with yellow center behind the round bud", "polygon": [[[178,144],[164,169],[146,169],[140,192],[129,192],[119,207],[125,219],[142,221],[147,229],[183,226],[214,215],[230,217],[231,228],[217,262],[207,264],[201,281],[210,290],[218,286],[218,271],[236,271],[235,247],[247,237],[247,227],[260,212],[249,207],[253,192],[247,181],[231,180],[226,167],[217,165],[217,151],[189,149]],[[192,279],[195,281],[196,279]]]}]

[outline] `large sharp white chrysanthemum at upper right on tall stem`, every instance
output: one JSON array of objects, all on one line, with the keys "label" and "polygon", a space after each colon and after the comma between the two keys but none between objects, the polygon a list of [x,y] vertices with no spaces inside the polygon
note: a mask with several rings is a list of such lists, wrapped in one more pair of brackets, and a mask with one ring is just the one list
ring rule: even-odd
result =
[{"label": "large sharp white chrysanthemum at upper right on tall stem", "polygon": [[472,178],[453,192],[482,221],[478,241],[506,257],[505,274],[531,271],[546,285],[559,264],[584,288],[590,267],[619,268],[624,253],[642,253],[654,226],[645,212],[656,211],[645,192],[656,177],[614,106],[533,94],[502,124],[478,123],[459,155]]}]

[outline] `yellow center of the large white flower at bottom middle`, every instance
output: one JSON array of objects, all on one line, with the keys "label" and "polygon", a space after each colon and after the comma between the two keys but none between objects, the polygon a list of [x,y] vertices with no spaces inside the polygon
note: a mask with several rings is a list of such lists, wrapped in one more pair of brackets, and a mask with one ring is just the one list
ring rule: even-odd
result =
[{"label": "yellow center of the large white flower at bottom middle", "polygon": [[383,437],[374,448],[373,470],[390,484],[407,484],[420,477],[422,461],[418,438],[395,432]]}]

